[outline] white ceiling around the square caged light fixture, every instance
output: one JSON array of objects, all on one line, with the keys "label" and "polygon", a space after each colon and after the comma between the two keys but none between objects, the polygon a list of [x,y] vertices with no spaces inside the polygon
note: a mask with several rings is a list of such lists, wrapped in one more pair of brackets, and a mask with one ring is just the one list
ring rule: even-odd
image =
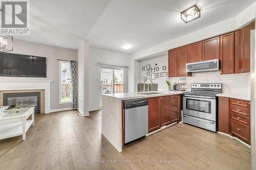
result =
[{"label": "white ceiling around the square caged light fixture", "polygon": [[[90,46],[135,54],[237,15],[256,0],[33,0],[30,36],[17,39],[76,49]],[[185,24],[180,12],[197,4],[201,18]],[[132,44],[123,50],[123,43]]]}]

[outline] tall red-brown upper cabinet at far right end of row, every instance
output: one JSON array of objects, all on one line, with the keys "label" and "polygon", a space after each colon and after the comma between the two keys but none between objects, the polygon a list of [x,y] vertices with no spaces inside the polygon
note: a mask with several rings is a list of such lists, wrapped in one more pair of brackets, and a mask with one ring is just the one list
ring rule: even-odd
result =
[{"label": "tall red-brown upper cabinet at far right end of row", "polygon": [[234,73],[250,72],[251,30],[255,22],[234,33]]}]

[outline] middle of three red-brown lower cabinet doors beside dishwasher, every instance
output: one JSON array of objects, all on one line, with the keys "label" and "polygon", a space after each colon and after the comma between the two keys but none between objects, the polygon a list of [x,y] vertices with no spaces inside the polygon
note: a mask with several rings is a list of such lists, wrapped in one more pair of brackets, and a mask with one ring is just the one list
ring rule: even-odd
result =
[{"label": "middle of three red-brown lower cabinet doors beside dishwasher", "polygon": [[160,122],[161,126],[170,124],[170,96],[160,97]]}]

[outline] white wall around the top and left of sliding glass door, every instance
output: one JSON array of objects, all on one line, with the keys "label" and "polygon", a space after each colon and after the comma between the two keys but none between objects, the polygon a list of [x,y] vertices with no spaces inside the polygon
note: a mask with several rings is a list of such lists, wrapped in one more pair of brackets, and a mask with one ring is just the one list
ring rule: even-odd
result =
[{"label": "white wall around the top and left of sliding glass door", "polygon": [[[89,50],[89,110],[100,108],[99,103],[99,62],[113,65],[131,65],[131,56],[90,47]],[[131,74],[129,68],[129,75]],[[129,76],[130,82],[130,76]],[[130,89],[130,87],[129,87]]]}]

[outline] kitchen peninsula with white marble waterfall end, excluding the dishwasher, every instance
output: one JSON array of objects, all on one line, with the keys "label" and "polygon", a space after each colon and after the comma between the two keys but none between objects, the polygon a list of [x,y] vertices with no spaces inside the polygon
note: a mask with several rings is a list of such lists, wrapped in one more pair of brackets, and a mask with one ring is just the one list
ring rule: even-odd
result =
[{"label": "kitchen peninsula with white marble waterfall end, excluding the dishwasher", "polygon": [[[180,120],[180,110],[181,110],[181,95],[182,91],[155,91],[155,92],[148,92],[148,94],[142,94],[142,93],[114,93],[114,94],[102,94],[102,111],[101,111],[101,133],[103,136],[108,139],[113,146],[119,151],[122,152],[122,147],[124,144],[124,132],[123,132],[123,126],[124,126],[124,120],[123,120],[123,101],[126,100],[133,100],[133,99],[148,99],[148,108],[149,108],[149,116],[148,116],[148,132],[155,131],[157,129],[160,129],[163,126],[173,124],[175,122],[178,122]],[[167,102],[166,102],[167,101]],[[163,109],[161,110],[162,105],[169,105],[172,103],[173,105],[179,105],[173,107],[176,110],[170,111],[168,109],[171,109],[172,107],[165,107],[163,106]],[[162,105],[161,105],[162,104]],[[167,108],[166,113],[169,114],[166,116],[163,115],[167,122],[160,123],[160,119],[163,118],[160,117],[160,114],[158,116],[158,122],[150,122],[150,112],[151,112],[151,105],[154,105],[155,107],[160,110],[159,112],[164,114],[164,111]],[[172,105],[172,104],[170,104]],[[153,108],[154,109],[154,108]],[[155,110],[154,110],[155,112]],[[173,116],[172,116],[173,115]],[[157,127],[152,126],[159,124]],[[154,124],[154,125],[153,125]],[[161,124],[161,125],[160,125]]]}]

